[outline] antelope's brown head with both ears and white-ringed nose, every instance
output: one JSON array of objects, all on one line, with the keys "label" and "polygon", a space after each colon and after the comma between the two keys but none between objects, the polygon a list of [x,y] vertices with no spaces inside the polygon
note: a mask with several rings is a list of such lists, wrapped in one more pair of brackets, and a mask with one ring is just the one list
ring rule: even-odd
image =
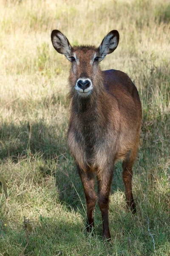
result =
[{"label": "antelope's brown head with both ears and white-ringed nose", "polygon": [[86,97],[95,89],[96,76],[99,76],[99,62],[112,53],[119,43],[119,32],[112,30],[105,36],[100,46],[71,47],[68,39],[59,30],[53,30],[51,41],[57,52],[64,54],[71,62],[70,80],[77,93]]}]

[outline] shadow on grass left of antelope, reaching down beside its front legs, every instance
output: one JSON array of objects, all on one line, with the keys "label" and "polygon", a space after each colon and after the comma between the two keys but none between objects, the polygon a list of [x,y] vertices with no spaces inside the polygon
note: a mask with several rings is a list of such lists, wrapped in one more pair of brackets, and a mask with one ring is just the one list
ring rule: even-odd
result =
[{"label": "shadow on grass left of antelope, reaching down beside its front legs", "polygon": [[4,122],[0,125],[0,162],[37,159],[39,178],[53,175],[59,201],[71,210],[80,207],[81,200],[84,202],[84,192],[68,153],[66,132],[67,122],[55,126],[43,121],[21,122],[19,125]]}]

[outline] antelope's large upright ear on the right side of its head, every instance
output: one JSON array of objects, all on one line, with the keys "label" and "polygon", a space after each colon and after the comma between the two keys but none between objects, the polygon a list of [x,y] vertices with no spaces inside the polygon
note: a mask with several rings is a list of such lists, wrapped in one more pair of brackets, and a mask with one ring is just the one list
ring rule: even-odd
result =
[{"label": "antelope's large upright ear on the right side of its head", "polygon": [[105,58],[107,54],[112,53],[119,44],[119,32],[112,30],[105,36],[99,46],[100,61]]}]

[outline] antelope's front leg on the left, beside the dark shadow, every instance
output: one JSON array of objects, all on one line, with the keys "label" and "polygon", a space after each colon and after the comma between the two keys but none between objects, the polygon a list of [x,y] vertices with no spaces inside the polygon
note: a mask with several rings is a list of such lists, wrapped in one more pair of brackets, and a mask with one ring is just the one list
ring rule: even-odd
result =
[{"label": "antelope's front leg on the left, beside the dark shadow", "polygon": [[86,230],[91,232],[94,227],[94,207],[96,204],[96,194],[94,191],[94,173],[84,172],[82,169],[77,166],[77,170],[79,172],[80,178],[82,180],[82,184],[85,191],[85,199],[87,205],[87,227]]}]

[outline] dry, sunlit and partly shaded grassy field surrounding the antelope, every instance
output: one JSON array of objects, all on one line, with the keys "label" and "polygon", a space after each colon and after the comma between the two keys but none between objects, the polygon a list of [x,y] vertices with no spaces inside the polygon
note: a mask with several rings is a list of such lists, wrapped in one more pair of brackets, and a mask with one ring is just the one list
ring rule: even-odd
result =
[{"label": "dry, sunlit and partly shaded grassy field surrounding the antelope", "polygon": [[[8,184],[0,256],[170,256],[169,0],[1,0],[0,27],[0,175]],[[126,209],[117,163],[109,244],[97,205],[95,235],[85,233],[84,192],[66,146],[70,63],[55,52],[52,29],[71,44],[96,45],[117,29],[119,46],[101,67],[124,71],[139,90],[137,213]]]}]

